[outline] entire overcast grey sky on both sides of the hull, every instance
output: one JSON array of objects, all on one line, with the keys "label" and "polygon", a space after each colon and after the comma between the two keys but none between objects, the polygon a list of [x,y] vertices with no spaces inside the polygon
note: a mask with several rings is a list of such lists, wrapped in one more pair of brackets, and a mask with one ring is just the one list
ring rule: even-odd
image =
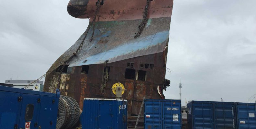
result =
[{"label": "entire overcast grey sky on both sides of the hull", "polygon": [[[37,79],[82,35],[69,0],[0,0],[0,83]],[[167,99],[247,102],[256,93],[256,1],[174,0]],[[44,79],[43,79],[44,81]]]}]

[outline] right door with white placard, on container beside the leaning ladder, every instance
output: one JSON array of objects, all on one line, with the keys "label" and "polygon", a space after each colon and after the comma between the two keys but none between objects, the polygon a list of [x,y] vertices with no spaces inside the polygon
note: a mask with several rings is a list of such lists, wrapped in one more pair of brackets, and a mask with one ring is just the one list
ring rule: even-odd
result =
[{"label": "right door with white placard, on container beside the leaning ladder", "polygon": [[181,102],[163,101],[163,129],[181,129]]}]

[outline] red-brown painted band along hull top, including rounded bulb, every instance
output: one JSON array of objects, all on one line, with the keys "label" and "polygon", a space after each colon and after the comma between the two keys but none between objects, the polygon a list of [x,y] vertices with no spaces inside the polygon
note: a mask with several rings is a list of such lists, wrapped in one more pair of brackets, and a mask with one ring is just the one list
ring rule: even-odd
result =
[{"label": "red-brown painted band along hull top, including rounded bulb", "polygon": [[[83,3],[83,4],[81,4]],[[104,1],[100,6],[99,21],[112,20],[134,20],[142,19],[142,14],[146,1],[139,0],[111,0]],[[150,2],[149,18],[171,17],[173,0],[155,0]],[[152,13],[155,10],[170,12],[162,15],[160,12]],[[96,10],[95,1],[93,0],[70,0],[68,4],[68,13],[76,18],[93,19]],[[108,13],[106,13],[108,12]],[[119,15],[122,12],[122,15]],[[115,15],[117,14],[117,15]],[[125,14],[125,15],[124,15]]]}]

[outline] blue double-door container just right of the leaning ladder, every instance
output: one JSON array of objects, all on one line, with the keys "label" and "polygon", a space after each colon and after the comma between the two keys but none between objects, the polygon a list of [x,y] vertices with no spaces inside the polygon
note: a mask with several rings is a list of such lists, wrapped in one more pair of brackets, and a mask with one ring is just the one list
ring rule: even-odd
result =
[{"label": "blue double-door container just right of the leaning ladder", "polygon": [[144,129],[181,128],[181,100],[144,100]]}]

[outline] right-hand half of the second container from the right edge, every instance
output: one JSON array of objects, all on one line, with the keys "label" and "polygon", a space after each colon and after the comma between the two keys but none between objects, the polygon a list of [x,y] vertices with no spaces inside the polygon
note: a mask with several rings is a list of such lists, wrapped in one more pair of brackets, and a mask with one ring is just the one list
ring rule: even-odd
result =
[{"label": "right-hand half of the second container from the right edge", "polygon": [[214,103],[215,129],[235,129],[234,103]]}]

